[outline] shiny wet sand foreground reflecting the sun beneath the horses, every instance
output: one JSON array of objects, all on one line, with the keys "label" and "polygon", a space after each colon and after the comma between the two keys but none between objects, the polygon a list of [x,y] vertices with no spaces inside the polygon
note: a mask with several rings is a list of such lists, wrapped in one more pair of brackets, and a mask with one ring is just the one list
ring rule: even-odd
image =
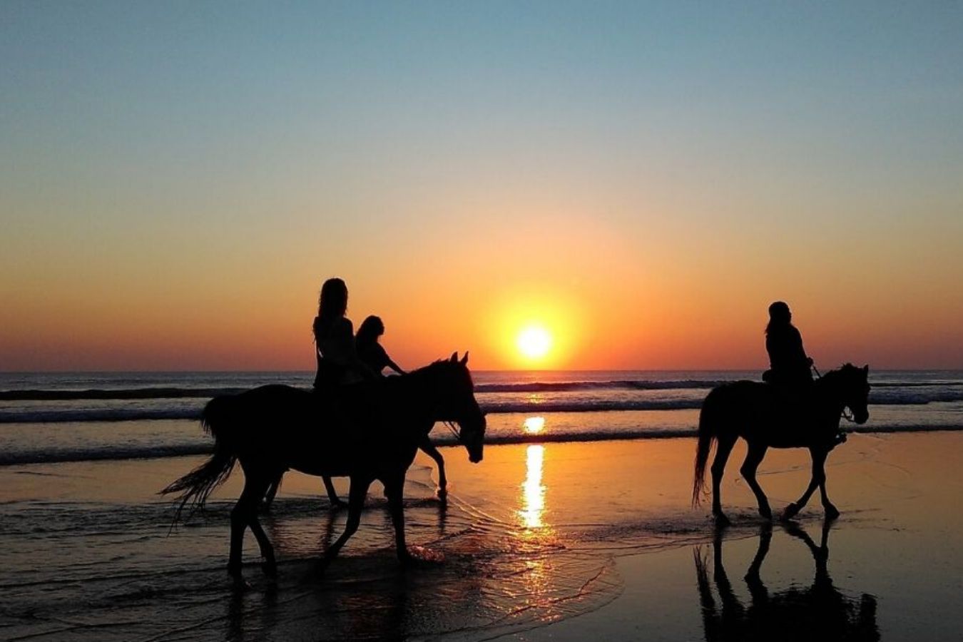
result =
[{"label": "shiny wet sand foreground reflecting the sun beneath the horses", "polygon": [[[170,504],[155,493],[199,457],[4,467],[0,637],[959,639],[963,433],[851,436],[830,456],[843,515],[828,527],[818,501],[768,526],[737,447],[723,488],[733,526],[716,533],[708,506],[689,506],[693,450],[690,439],[498,446],[472,465],[443,449],[447,506],[427,458],[405,489],[408,541],[425,561],[399,567],[375,488],[321,577],[314,560],[345,514],[327,509],[319,479],[287,475],[264,519],[278,578],[260,573],[248,535],[245,592],[223,570],[238,473],[168,534]],[[770,451],[761,473],[778,510],[805,487],[808,455]]]}]

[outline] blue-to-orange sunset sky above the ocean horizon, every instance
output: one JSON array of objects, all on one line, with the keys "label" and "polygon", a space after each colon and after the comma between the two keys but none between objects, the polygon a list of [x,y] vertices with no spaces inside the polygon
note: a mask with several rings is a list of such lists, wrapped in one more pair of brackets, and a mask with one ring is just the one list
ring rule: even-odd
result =
[{"label": "blue-to-orange sunset sky above the ocean horizon", "polygon": [[[0,4],[0,370],[963,368],[963,4]],[[539,359],[525,328],[551,336]]]}]

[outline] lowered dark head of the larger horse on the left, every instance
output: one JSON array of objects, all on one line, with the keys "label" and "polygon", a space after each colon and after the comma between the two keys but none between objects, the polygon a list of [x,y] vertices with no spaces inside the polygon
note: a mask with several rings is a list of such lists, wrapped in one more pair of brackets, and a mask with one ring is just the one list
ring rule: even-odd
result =
[{"label": "lowered dark head of the larger horse on the left", "polygon": [[485,418],[468,372],[468,352],[460,359],[454,352],[451,359],[437,361],[431,367],[437,372],[439,391],[436,420],[458,424],[457,430],[453,428],[455,436],[468,450],[468,460],[477,464],[483,456]]}]

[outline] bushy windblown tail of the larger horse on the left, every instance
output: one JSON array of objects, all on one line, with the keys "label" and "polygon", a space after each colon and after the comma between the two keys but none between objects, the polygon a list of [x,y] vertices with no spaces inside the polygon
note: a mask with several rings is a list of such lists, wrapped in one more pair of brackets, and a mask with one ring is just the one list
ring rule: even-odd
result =
[{"label": "bushy windblown tail of the larger horse on the left", "polygon": [[206,462],[161,491],[161,495],[179,494],[180,503],[174,514],[174,524],[180,520],[181,513],[188,504],[192,512],[197,508],[203,508],[208,496],[224,483],[234,470],[237,454],[229,444],[230,433],[224,431],[227,424],[232,424],[236,416],[233,401],[235,401],[234,397],[216,397],[207,402],[200,414],[200,424],[204,432],[214,437],[214,454]]}]

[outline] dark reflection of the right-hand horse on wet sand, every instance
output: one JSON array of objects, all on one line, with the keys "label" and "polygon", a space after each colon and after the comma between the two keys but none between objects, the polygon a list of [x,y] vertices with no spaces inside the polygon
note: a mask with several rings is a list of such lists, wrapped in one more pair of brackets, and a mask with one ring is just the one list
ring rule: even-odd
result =
[{"label": "dark reflection of the right-hand horse on wet sand", "polygon": [[699,603],[706,642],[752,642],[753,640],[856,640],[876,642],[876,600],[864,593],[858,600],[847,597],[829,577],[827,560],[830,521],[822,525],[822,539],[817,546],[806,531],[790,523],[786,531],[802,540],[816,560],[816,576],[807,588],[792,586],[771,593],[759,575],[769,551],[772,525],[766,523],[759,535],[759,548],[745,575],[750,603],[744,606],[733,591],[722,564],[721,528],[713,540],[713,578],[721,607],[716,605],[706,561],[698,549],[694,552]]}]

